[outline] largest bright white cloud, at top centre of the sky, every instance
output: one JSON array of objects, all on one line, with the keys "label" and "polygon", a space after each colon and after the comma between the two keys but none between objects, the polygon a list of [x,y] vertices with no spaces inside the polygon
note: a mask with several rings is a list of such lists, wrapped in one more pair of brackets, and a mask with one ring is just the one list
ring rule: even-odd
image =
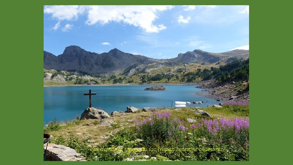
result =
[{"label": "largest bright white cloud, at top centre of the sky", "polygon": [[163,24],[154,25],[158,17],[156,13],[172,9],[173,6],[91,6],[86,24],[107,24],[110,21],[123,22],[144,29],[146,32],[159,32],[167,27]]}]

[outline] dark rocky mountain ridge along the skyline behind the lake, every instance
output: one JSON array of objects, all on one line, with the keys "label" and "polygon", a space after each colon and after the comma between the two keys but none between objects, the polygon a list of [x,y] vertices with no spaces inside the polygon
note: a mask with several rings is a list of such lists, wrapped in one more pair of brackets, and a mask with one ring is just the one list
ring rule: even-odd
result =
[{"label": "dark rocky mountain ridge along the skyline behind the lake", "polygon": [[87,73],[109,73],[114,71],[133,72],[136,69],[152,70],[161,66],[175,66],[184,63],[202,65],[227,63],[236,59],[247,59],[249,50],[232,50],[223,53],[209,53],[202,50],[179,53],[172,59],[154,59],[142,55],[125,53],[112,49],[108,53],[94,53],[79,46],[68,46],[62,54],[55,56],[44,51],[44,68],[56,70],[77,70]]}]

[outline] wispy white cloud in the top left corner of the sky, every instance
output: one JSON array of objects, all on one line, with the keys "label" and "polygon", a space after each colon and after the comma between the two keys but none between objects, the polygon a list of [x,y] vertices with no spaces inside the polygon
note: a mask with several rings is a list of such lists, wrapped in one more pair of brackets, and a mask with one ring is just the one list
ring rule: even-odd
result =
[{"label": "wispy white cloud in the top left corner of the sky", "polygon": [[44,13],[52,14],[57,20],[78,19],[78,15],[85,11],[85,6],[78,5],[52,5],[45,6]]}]

